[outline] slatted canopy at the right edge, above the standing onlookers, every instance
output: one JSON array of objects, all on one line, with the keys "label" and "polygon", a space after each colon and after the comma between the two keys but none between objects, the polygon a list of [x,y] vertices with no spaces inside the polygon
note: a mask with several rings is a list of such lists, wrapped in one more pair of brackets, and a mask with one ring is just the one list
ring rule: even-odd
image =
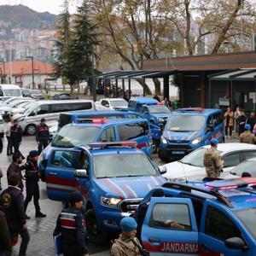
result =
[{"label": "slatted canopy at the right edge, above the standing onlookers", "polygon": [[223,73],[215,73],[210,76],[210,80],[222,80],[222,81],[233,81],[233,80],[249,80],[254,81],[256,75],[255,68],[243,68]]}]

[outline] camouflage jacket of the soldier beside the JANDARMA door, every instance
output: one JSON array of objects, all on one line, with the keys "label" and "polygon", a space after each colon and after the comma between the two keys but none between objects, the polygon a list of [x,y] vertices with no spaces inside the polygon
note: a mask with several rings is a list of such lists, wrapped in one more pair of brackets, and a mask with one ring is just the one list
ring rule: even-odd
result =
[{"label": "camouflage jacket of the soldier beside the JANDARMA door", "polygon": [[[133,240],[133,241],[132,241]],[[135,245],[135,242],[138,246],[141,247],[140,242],[137,237],[126,238],[122,234],[119,236],[119,239],[116,239],[113,242],[111,247],[111,256],[138,256],[142,255],[139,248]]]}]

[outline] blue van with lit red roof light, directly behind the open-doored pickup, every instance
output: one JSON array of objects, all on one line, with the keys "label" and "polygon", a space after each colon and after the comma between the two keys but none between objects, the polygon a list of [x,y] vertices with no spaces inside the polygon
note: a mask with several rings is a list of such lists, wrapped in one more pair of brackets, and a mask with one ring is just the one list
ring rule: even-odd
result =
[{"label": "blue van with lit red roof light, directly behind the open-doored pickup", "polygon": [[148,156],[153,151],[152,136],[147,119],[76,119],[65,125],[40,154],[39,171],[44,180],[44,166],[55,148],[73,148],[93,142],[135,141],[137,148]]}]

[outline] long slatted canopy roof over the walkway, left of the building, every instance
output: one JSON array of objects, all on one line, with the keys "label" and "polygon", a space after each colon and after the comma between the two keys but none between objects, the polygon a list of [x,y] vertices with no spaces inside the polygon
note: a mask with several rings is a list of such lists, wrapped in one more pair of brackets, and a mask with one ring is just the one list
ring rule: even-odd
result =
[{"label": "long slatted canopy roof over the walkway, left of the building", "polygon": [[97,79],[154,79],[165,78],[172,74],[178,73],[177,70],[170,71],[154,71],[154,70],[130,70],[117,71],[111,73],[103,73]]}]

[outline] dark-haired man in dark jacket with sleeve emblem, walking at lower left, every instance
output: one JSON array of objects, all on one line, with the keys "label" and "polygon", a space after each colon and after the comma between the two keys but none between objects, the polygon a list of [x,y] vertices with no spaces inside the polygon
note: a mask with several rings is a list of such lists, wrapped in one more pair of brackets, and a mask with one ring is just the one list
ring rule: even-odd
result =
[{"label": "dark-haired man in dark jacket with sleeve emblem, walking at lower left", "polygon": [[9,177],[9,187],[3,190],[0,196],[0,204],[6,213],[11,241],[17,234],[21,236],[19,256],[25,256],[29,234],[23,207],[24,197],[19,188],[19,181],[18,174],[13,174]]}]

